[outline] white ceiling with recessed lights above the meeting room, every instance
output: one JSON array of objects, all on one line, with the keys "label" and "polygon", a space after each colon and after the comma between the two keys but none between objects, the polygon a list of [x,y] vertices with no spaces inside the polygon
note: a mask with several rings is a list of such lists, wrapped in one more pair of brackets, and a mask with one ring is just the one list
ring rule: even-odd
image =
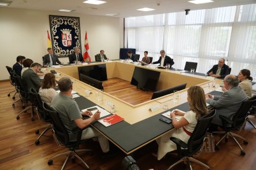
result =
[{"label": "white ceiling with recessed lights above the meeting room", "polygon": [[[4,0],[0,0],[4,1]],[[142,15],[164,14],[181,12],[185,9],[209,9],[214,7],[237,6],[242,4],[254,4],[256,0],[213,0],[208,4],[192,4],[189,0],[104,0],[105,4],[85,4],[85,0],[12,0],[9,8],[35,9],[58,11],[59,9],[74,9],[73,13],[88,15],[119,14],[117,17],[135,17]],[[142,12],[136,9],[143,7],[153,8],[150,12]],[[0,7],[1,10],[1,7]]]}]

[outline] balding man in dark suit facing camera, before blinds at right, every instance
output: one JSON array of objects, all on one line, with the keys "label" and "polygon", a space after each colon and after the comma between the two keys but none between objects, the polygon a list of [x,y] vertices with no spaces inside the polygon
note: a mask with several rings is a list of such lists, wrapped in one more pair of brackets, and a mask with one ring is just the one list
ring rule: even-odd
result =
[{"label": "balding man in dark suit facing camera, before blinds at right", "polygon": [[229,75],[228,65],[225,64],[225,59],[220,59],[218,64],[213,65],[213,68],[207,72],[207,75],[215,78],[224,78]]}]

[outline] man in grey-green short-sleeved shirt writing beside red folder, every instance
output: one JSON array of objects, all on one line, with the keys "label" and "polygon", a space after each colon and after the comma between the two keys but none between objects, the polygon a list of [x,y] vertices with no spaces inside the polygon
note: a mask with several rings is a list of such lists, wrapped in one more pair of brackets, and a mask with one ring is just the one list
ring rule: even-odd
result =
[{"label": "man in grey-green short-sleeved shirt writing beside red folder", "polygon": [[[53,107],[56,111],[59,112],[59,116],[64,123],[64,126],[67,128],[67,132],[69,132],[70,141],[76,140],[76,135],[72,133],[72,129],[75,127],[79,127],[80,129],[87,127],[100,118],[100,111],[97,111],[91,118],[82,119],[82,115],[90,116],[92,115],[91,111],[80,112],[79,106],[77,102],[72,98],[72,81],[70,78],[63,77],[59,79],[58,87],[61,91],[59,94],[55,95],[53,100],[51,101],[51,107]],[[83,130],[81,139],[90,139],[92,137],[98,137],[98,141],[100,143],[101,150],[104,155],[109,154],[109,143],[108,139],[102,136],[98,131],[93,129],[92,127],[87,127],[87,129]],[[103,155],[103,156],[104,156]]]}]

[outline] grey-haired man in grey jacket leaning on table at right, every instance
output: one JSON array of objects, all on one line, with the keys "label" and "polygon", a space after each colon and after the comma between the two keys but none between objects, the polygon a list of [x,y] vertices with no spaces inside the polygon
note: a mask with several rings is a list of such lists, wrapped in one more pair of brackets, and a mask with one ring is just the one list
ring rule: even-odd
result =
[{"label": "grey-haired man in grey jacket leaning on table at right", "polygon": [[247,95],[238,86],[239,81],[236,76],[228,75],[224,78],[224,87],[228,90],[222,95],[213,96],[206,94],[206,102],[212,105],[216,110],[216,115],[211,121],[215,126],[222,126],[220,115],[232,119],[244,100],[247,100]]}]

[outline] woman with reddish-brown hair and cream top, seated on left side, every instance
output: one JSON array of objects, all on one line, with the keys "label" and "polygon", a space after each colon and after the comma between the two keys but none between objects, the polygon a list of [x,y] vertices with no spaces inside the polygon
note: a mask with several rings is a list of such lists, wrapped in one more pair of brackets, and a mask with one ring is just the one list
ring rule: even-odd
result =
[{"label": "woman with reddish-brown hair and cream top, seated on left side", "polygon": [[51,100],[57,94],[53,89],[54,87],[56,87],[55,76],[53,73],[47,73],[43,78],[38,94],[42,101],[48,103],[48,105],[51,104]]}]

